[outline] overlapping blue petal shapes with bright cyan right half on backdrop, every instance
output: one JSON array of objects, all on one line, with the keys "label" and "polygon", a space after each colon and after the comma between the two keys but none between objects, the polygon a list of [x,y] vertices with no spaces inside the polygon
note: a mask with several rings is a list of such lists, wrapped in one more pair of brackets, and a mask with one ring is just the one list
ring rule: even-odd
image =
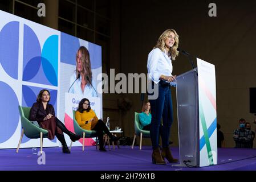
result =
[{"label": "overlapping blue petal shapes with bright cyan right half on backdrop", "polygon": [[35,32],[24,25],[23,81],[58,86],[58,35],[44,42],[41,53]]}]

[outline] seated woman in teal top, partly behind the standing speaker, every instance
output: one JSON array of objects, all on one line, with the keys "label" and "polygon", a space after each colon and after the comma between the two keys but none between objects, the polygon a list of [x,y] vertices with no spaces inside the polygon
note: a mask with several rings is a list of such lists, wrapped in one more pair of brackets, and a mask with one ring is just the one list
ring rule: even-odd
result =
[{"label": "seated woman in teal top, partly behind the standing speaker", "polygon": [[[139,114],[139,121],[140,125],[142,126],[143,130],[150,130],[151,129],[151,113],[150,113],[150,102],[145,101],[142,106],[142,113]],[[162,135],[162,125],[159,127],[159,133]]]}]

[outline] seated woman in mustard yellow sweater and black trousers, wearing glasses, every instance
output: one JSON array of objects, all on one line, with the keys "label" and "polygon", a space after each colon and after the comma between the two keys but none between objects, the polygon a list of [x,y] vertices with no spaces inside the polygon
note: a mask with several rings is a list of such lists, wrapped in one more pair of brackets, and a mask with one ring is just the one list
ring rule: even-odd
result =
[{"label": "seated woman in mustard yellow sweater and black trousers, wearing glasses", "polygon": [[[75,113],[76,121],[78,125],[85,130],[96,130],[99,137],[100,151],[106,151],[103,147],[103,134],[107,134],[111,140],[117,141],[118,138],[112,135],[105,123],[98,119],[94,110],[91,109],[90,101],[87,98],[83,98],[78,105],[78,110]],[[104,133],[103,133],[104,131]]]}]

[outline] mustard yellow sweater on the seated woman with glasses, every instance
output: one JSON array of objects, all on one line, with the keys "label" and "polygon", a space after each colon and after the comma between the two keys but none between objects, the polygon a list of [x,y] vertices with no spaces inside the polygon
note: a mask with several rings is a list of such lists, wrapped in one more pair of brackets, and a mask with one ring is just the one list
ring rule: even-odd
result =
[{"label": "mustard yellow sweater on the seated woman with glasses", "polygon": [[[94,129],[95,125],[97,124],[97,121],[99,120],[94,112],[94,110],[90,111],[83,111],[83,113],[80,113],[79,111],[76,111],[75,113],[76,121],[78,122],[78,125],[82,127],[84,130],[92,130]],[[91,122],[88,122],[90,119],[94,118]]]}]

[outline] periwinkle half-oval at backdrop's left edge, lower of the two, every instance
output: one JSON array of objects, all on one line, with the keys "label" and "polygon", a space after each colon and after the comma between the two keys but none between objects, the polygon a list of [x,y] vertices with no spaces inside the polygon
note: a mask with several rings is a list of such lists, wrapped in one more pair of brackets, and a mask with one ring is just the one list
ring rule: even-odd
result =
[{"label": "periwinkle half-oval at backdrop's left edge, lower of the two", "polygon": [[5,82],[0,81],[0,108],[1,108],[1,127],[0,143],[6,142],[14,134],[19,123],[19,101],[14,90]]}]

